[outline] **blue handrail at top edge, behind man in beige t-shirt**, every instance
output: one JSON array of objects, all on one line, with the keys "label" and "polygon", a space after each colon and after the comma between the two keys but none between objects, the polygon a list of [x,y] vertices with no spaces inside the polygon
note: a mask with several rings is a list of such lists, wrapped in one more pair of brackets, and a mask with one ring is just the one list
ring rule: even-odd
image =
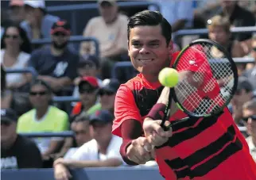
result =
[{"label": "blue handrail at top edge, behind man in beige t-shirt", "polygon": [[[119,7],[130,7],[130,6],[157,6],[157,9],[160,10],[158,3],[156,2],[118,2]],[[64,6],[49,6],[47,7],[48,12],[57,12],[64,10],[91,10],[98,8],[98,3],[88,3],[88,4],[78,4],[78,5],[64,5]]]}]

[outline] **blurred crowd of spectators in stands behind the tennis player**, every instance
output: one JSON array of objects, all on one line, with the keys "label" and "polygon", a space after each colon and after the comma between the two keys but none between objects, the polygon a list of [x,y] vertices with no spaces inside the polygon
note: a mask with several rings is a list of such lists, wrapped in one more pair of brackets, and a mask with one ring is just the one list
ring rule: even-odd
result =
[{"label": "blurred crowd of spectators in stands behind the tennis player", "polygon": [[[199,37],[215,40],[237,63],[238,90],[229,105],[235,122],[246,128],[244,136],[256,160],[256,33],[231,33],[232,27],[256,25],[256,1],[165,1],[161,13],[180,29],[208,29],[208,36],[174,39],[179,51]],[[54,167],[57,179],[71,177],[69,168],[124,166],[119,154],[122,140],[111,134],[114,98],[124,71],[113,78],[117,62],[129,61],[127,22],[129,12],[121,12],[114,0],[97,2],[99,17],[84,22],[83,36],[99,40],[83,41],[79,48],[69,42],[70,22],[47,12],[43,0],[11,0],[1,19],[1,168]],[[156,6],[149,6],[156,10]],[[80,22],[83,23],[83,22]],[[50,44],[33,40],[50,38]],[[212,55],[222,58],[218,49]],[[246,63],[246,59],[254,59]],[[29,73],[6,71],[33,67]],[[56,102],[54,97],[72,96],[78,101]],[[27,138],[19,133],[74,132],[72,137]],[[156,163],[149,162],[149,166]]]}]

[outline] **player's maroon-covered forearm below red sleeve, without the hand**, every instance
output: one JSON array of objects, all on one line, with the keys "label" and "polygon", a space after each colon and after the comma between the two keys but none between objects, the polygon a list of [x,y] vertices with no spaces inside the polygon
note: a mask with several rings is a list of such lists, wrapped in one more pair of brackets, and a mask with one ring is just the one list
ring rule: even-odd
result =
[{"label": "player's maroon-covered forearm below red sleeve, without the hand", "polygon": [[134,163],[130,161],[126,155],[127,147],[130,146],[131,141],[137,139],[142,136],[142,124],[140,124],[136,120],[126,120],[122,123],[121,126],[122,131],[122,145],[120,147],[120,154],[122,155],[122,159],[125,163],[129,165],[138,165],[138,163]]}]

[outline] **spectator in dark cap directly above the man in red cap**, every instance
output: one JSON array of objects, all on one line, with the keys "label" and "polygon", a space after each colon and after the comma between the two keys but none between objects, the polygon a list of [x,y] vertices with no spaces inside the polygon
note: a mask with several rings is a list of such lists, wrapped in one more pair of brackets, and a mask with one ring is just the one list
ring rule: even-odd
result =
[{"label": "spectator in dark cap directly above the man in red cap", "polygon": [[[80,63],[78,63],[77,67],[77,73],[79,77],[77,77],[74,80],[74,84],[76,85],[74,92],[73,92],[73,97],[74,98],[79,98],[79,88],[78,84],[83,77],[86,76],[92,76],[92,77],[97,77],[99,75],[99,60],[95,56],[84,56],[84,59],[80,60]],[[102,80],[97,79],[99,86],[102,86]]]}]

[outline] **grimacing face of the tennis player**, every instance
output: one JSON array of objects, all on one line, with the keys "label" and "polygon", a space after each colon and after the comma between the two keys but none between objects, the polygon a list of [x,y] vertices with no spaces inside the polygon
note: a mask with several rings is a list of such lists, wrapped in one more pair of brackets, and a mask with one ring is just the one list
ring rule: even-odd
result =
[{"label": "grimacing face of the tennis player", "polygon": [[128,43],[131,63],[143,75],[158,75],[163,67],[169,66],[171,51],[160,25],[130,29]]}]

